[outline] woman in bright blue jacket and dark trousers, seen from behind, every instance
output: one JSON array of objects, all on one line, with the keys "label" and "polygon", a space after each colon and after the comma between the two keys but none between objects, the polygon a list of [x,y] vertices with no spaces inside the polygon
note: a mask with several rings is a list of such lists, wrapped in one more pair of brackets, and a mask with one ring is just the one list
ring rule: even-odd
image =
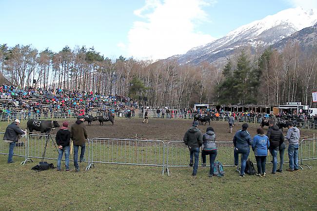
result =
[{"label": "woman in bright blue jacket and dark trousers, seen from behind", "polygon": [[265,162],[267,156],[267,149],[270,146],[269,138],[264,135],[262,128],[257,129],[258,135],[253,138],[252,149],[254,155],[256,156],[258,173],[256,174],[259,177],[266,176],[265,173]]}]

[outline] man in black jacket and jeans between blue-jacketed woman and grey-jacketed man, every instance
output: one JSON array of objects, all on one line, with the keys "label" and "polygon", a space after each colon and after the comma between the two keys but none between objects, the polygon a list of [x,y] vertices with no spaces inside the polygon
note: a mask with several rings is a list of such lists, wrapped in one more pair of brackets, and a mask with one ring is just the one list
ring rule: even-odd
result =
[{"label": "man in black jacket and jeans between blue-jacketed woman and grey-jacketed man", "polygon": [[[273,120],[269,120],[269,129],[266,133],[266,136],[270,141],[270,153],[273,157],[273,167],[272,174],[276,174],[276,172],[282,172],[283,164],[284,164],[284,151],[286,145],[284,143],[284,135],[283,132],[279,129],[277,125],[274,125]],[[277,169],[277,152],[279,152],[280,158],[280,166]]]}]

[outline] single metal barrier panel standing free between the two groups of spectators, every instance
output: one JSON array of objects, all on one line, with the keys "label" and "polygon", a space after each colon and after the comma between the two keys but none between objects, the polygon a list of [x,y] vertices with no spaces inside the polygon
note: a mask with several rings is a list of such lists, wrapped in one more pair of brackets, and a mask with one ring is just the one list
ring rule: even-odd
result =
[{"label": "single metal barrier panel standing free between the two groups of spectators", "polygon": [[94,138],[91,163],[161,166],[164,174],[164,141]]}]

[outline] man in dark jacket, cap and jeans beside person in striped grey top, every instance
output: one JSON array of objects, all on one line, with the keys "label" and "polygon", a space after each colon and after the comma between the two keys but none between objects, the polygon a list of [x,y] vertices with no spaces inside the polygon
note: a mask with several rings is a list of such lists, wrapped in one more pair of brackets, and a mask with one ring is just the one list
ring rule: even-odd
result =
[{"label": "man in dark jacket, cap and jeans beside person in striped grey top", "polygon": [[193,126],[191,126],[185,133],[183,141],[185,145],[188,147],[190,151],[190,166],[193,166],[193,161],[195,157],[195,163],[193,168],[193,176],[196,176],[198,170],[198,162],[199,162],[199,148],[202,145],[202,133],[197,128],[198,121],[193,122]]}]

